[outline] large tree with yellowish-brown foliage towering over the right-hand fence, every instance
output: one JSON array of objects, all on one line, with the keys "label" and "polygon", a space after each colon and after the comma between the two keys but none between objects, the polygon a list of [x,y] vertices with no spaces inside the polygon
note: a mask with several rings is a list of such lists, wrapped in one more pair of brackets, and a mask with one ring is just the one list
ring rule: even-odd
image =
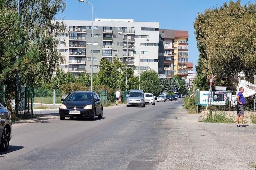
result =
[{"label": "large tree with yellowish-brown foliage towering over the right-hand fence", "polygon": [[205,89],[210,74],[236,77],[256,67],[256,4],[239,1],[198,13],[194,22],[199,50],[197,88]]}]

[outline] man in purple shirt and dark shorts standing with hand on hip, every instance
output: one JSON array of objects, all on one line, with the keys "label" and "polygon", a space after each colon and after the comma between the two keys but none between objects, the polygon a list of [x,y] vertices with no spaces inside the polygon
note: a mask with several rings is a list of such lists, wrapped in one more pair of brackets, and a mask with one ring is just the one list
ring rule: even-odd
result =
[{"label": "man in purple shirt and dark shorts standing with hand on hip", "polygon": [[[237,122],[237,125],[236,125],[236,127],[245,127],[243,125],[243,122],[244,122],[244,105],[246,103],[246,100],[243,96],[243,92],[244,92],[244,88],[240,87],[239,92],[237,94],[237,105],[236,105],[236,113],[237,113],[236,122]],[[241,124],[239,125],[239,118],[240,117],[241,117]]]}]

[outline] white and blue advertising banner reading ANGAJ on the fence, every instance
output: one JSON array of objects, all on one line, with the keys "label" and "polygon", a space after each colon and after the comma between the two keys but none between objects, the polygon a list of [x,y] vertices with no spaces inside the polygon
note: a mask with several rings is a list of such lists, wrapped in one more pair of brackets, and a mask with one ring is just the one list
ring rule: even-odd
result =
[{"label": "white and blue advertising banner reading ANGAJ on the fence", "polygon": [[[200,91],[200,105],[207,105],[208,93],[208,91]],[[211,93],[209,94],[209,103],[212,100],[212,105],[226,105],[231,101],[231,92],[212,91],[212,99],[210,99]]]}]

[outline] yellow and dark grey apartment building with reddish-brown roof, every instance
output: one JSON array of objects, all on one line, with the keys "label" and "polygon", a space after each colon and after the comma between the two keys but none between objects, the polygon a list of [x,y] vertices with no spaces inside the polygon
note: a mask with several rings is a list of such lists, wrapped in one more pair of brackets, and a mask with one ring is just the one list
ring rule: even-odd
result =
[{"label": "yellow and dark grey apartment building with reddish-brown roof", "polygon": [[188,31],[159,29],[159,74],[166,74],[167,78],[173,75],[178,75],[182,79],[187,78],[189,69],[187,41]]}]

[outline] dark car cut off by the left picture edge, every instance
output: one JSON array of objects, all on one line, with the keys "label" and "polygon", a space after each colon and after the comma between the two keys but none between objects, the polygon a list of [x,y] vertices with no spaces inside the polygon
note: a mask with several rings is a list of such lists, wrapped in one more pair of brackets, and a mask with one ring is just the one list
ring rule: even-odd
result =
[{"label": "dark car cut off by the left picture edge", "polygon": [[4,152],[8,149],[12,138],[12,116],[2,103],[0,103],[0,151]]}]

